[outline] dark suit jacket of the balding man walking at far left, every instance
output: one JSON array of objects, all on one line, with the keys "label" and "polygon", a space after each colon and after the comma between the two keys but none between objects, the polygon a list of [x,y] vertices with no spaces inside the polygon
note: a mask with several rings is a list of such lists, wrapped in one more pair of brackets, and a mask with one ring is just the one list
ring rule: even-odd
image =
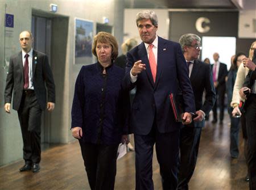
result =
[{"label": "dark suit jacket of the balding man walking at far left", "polygon": [[[35,59],[36,57],[36,59]],[[23,62],[22,52],[11,56],[9,73],[6,78],[5,103],[11,103],[13,94],[13,109],[18,110],[23,94]],[[32,82],[35,90],[36,99],[42,109],[46,108],[46,86],[48,102],[55,103],[55,85],[52,71],[48,63],[46,54],[33,49],[32,58]]]}]

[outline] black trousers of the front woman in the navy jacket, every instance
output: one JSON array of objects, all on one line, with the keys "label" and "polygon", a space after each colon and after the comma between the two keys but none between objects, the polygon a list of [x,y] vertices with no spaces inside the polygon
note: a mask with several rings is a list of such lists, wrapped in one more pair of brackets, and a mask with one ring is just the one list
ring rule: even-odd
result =
[{"label": "black trousers of the front woman in the navy jacket", "polygon": [[118,145],[93,144],[82,140],[79,143],[90,189],[113,190]]}]

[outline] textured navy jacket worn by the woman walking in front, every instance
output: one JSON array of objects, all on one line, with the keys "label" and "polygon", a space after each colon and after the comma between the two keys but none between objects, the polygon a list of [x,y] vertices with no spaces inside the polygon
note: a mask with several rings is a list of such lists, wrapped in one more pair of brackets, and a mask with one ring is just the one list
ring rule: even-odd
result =
[{"label": "textured navy jacket worn by the woman walking in front", "polygon": [[82,128],[82,140],[105,145],[117,144],[127,134],[129,91],[122,90],[124,70],[114,64],[106,67],[82,66],[76,79],[71,128]]}]

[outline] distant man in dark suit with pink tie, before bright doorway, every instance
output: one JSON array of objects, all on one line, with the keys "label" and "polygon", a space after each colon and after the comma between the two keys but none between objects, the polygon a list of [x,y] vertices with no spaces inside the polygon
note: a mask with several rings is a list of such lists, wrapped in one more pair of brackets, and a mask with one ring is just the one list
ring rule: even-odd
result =
[{"label": "distant man in dark suit with pink tie, before bright doorway", "polygon": [[213,106],[213,120],[212,123],[217,123],[217,105],[220,107],[220,124],[222,124],[224,118],[224,100],[226,93],[226,76],[228,75],[228,70],[226,69],[226,64],[222,64],[218,59],[220,56],[218,53],[213,54],[213,60],[215,61],[212,65],[213,73],[213,83],[216,90],[217,100]]}]

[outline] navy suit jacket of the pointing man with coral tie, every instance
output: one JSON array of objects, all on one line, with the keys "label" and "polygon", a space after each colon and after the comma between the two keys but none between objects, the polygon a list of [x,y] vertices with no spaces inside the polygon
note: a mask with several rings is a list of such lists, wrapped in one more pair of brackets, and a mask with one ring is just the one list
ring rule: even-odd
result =
[{"label": "navy suit jacket of the pointing man with coral tie", "polygon": [[[195,112],[193,90],[188,78],[187,64],[180,45],[158,37],[158,64],[156,81],[153,82],[147,51],[142,42],[127,53],[128,63],[123,86],[137,92],[131,108],[131,128],[135,134],[146,135],[150,132],[154,118],[160,133],[180,129],[171,109],[169,95],[177,94],[179,86],[184,99],[184,111]],[[134,62],[142,60],[146,70],[138,74],[137,81],[131,83],[130,70]]]}]

